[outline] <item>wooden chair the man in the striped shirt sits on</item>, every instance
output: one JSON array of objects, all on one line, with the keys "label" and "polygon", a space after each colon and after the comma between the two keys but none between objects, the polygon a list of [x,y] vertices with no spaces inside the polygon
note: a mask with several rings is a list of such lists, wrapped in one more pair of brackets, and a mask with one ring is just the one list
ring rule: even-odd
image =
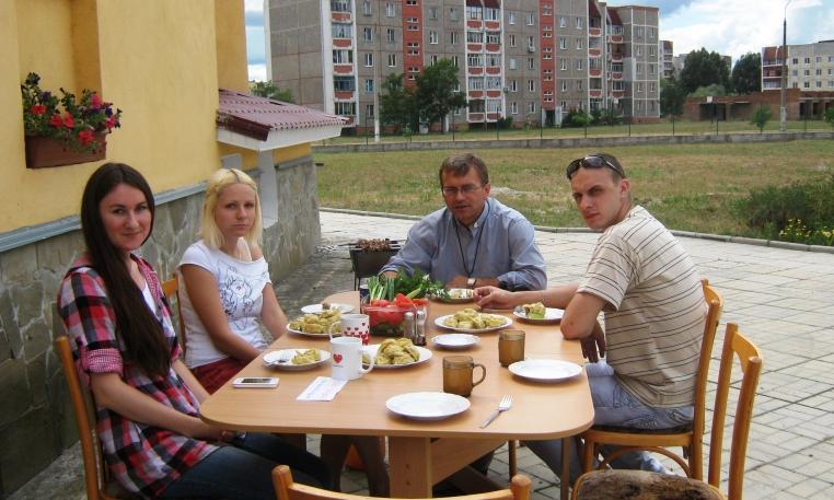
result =
[{"label": "wooden chair the man in the striped shirt sits on", "polygon": [[[704,452],[702,440],[706,419],[707,375],[709,374],[709,361],[713,356],[718,321],[721,317],[723,300],[716,290],[709,286],[709,281],[702,280],[704,298],[706,299],[707,321],[704,326],[704,339],[700,345],[698,360],[698,376],[695,383],[695,410],[693,421],[688,426],[659,431],[624,429],[607,426],[594,426],[582,433],[584,442],[582,466],[584,472],[593,468],[594,458],[599,454],[599,446],[612,444],[622,446],[615,453],[605,457],[599,468],[605,468],[615,457],[634,451],[646,450],[665,455],[675,461],[686,476],[704,478]],[[682,446],[683,457],[676,455],[667,446]],[[688,458],[688,464],[685,461]]]}]

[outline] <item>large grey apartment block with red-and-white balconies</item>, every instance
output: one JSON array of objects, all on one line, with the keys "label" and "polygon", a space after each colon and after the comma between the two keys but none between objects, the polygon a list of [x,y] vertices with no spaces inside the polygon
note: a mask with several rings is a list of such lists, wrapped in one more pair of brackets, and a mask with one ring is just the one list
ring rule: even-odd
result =
[{"label": "large grey apartment block with red-and-white balconies", "polygon": [[[659,117],[658,9],[596,0],[270,0],[268,72],[299,104],[372,126],[380,83],[441,58],[468,106],[447,127],[570,109]],[[652,48],[649,48],[651,46]]]}]

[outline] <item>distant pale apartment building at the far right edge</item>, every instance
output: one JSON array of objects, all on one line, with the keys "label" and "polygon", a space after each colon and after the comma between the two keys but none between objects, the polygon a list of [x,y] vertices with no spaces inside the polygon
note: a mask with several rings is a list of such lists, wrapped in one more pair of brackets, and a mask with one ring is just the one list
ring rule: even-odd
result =
[{"label": "distant pale apartment building at the far right edge", "polygon": [[[784,47],[762,47],[762,90],[781,89]],[[834,91],[834,40],[787,46],[788,89]]]}]

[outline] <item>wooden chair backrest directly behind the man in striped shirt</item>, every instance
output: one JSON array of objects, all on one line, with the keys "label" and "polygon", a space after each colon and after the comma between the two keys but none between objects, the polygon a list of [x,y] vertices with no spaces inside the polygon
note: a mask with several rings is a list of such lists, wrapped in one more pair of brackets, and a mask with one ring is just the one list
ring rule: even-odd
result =
[{"label": "wooden chair backrest directly behind the man in striped shirt", "polygon": [[[704,439],[706,425],[707,386],[709,385],[709,361],[713,358],[718,322],[721,319],[723,299],[706,279],[700,280],[704,288],[704,300],[707,302],[707,319],[704,324],[704,338],[700,342],[700,357],[698,359],[698,377],[695,381],[695,415],[692,420],[692,440],[700,443]],[[693,477],[700,478],[703,464],[694,464]]]}]

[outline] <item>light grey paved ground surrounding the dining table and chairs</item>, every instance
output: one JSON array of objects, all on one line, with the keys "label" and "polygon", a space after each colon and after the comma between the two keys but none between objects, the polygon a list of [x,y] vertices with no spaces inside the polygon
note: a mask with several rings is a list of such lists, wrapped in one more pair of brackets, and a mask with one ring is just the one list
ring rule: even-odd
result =
[{"label": "light grey paved ground surrounding the dining table and chairs", "polygon": [[[289,314],[329,293],[352,288],[348,253],[339,244],[358,237],[402,240],[414,223],[409,219],[329,211],[322,211],[321,220],[322,246],[306,265],[276,287]],[[578,278],[595,240],[595,234],[587,232],[537,231],[536,242],[547,263],[549,283]],[[681,241],[702,276],[725,298],[714,359],[720,350],[727,322],[738,323],[764,353],[746,460],[745,498],[831,499],[834,254],[702,237]],[[715,380],[715,375],[710,379]],[[308,444],[316,451],[317,437],[311,435]],[[558,479],[524,447],[519,451],[519,469],[533,479],[534,499],[558,497]],[[490,476],[507,484],[507,470],[506,450],[501,450],[493,462]],[[360,492],[364,486],[361,473],[343,475],[343,490]],[[84,498],[78,445],[68,449],[10,500],[30,498]]]}]

